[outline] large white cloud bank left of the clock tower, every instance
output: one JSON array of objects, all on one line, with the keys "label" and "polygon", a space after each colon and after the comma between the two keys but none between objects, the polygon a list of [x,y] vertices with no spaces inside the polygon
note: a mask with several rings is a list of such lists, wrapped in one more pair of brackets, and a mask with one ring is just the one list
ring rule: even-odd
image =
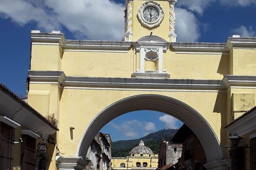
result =
[{"label": "large white cloud bank left of the clock tower", "polygon": [[0,16],[23,26],[59,30],[64,26],[78,39],[121,40],[124,5],[111,0],[0,0]]}]

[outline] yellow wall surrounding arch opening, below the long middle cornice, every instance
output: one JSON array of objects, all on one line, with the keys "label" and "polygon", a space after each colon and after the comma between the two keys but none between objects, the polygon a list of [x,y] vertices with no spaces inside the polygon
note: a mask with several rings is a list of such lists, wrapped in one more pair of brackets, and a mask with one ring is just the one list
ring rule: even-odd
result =
[{"label": "yellow wall surrounding arch opening, below the long middle cornice", "polygon": [[[65,140],[59,141],[60,150],[66,152],[67,155],[74,155],[86,126],[98,113],[118,100],[142,94],[164,95],[185,102],[203,115],[220,140],[220,122],[222,119],[226,120],[226,108],[222,106],[222,102],[225,101],[225,93],[64,89],[60,105],[59,135]],[[202,107],[202,103],[204,103],[204,107]],[[73,140],[70,138],[70,126],[75,127]],[[70,143],[72,146],[66,147]]]}]

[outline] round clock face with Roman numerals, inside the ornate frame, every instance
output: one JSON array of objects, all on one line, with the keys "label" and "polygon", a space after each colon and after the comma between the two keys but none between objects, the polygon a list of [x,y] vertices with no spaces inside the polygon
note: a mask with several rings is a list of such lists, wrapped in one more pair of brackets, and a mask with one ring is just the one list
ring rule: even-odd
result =
[{"label": "round clock face with Roman numerals, inside the ornate frame", "polygon": [[159,19],[159,10],[153,6],[145,7],[142,16],[145,22],[155,23]]}]

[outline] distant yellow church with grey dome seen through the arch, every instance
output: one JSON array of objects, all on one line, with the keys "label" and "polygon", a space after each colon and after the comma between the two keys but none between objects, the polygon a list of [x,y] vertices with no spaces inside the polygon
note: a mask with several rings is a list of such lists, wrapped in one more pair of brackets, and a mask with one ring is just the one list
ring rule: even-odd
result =
[{"label": "distant yellow church with grey dome seen through the arch", "polygon": [[158,154],[154,152],[141,140],[139,146],[136,146],[129,152],[126,158],[111,158],[112,170],[155,170],[158,168]]}]

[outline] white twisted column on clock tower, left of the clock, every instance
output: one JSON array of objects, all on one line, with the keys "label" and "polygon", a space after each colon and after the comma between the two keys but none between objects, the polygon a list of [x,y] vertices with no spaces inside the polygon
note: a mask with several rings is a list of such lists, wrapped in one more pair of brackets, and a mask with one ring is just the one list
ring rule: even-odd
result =
[{"label": "white twisted column on clock tower, left of the clock", "polygon": [[126,0],[126,32],[124,33],[125,41],[132,41],[132,1]]}]

